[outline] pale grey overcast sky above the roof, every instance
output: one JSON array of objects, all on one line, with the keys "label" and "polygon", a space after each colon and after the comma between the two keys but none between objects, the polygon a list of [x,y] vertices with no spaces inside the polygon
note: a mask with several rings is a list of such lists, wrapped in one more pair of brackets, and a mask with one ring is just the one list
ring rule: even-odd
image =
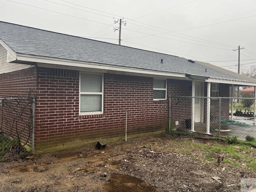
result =
[{"label": "pale grey overcast sky above the roof", "polygon": [[121,45],[234,72],[240,45],[240,71],[256,65],[256,0],[0,0],[1,21],[113,44],[120,18]]}]

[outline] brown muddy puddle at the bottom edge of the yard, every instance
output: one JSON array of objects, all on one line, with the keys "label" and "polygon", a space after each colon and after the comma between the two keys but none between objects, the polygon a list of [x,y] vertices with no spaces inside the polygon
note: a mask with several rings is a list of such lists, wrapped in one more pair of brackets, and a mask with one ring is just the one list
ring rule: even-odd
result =
[{"label": "brown muddy puddle at the bottom edge of the yard", "polygon": [[106,192],[159,192],[153,186],[148,185],[136,177],[111,174],[106,184]]}]

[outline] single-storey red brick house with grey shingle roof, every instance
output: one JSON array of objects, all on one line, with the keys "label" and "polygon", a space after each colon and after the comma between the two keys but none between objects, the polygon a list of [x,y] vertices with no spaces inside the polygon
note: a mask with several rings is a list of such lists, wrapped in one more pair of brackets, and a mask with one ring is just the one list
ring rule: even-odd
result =
[{"label": "single-storey red brick house with grey shingle roof", "polygon": [[[168,96],[228,97],[256,80],[211,64],[0,22],[0,97],[36,96],[34,149],[160,132]],[[210,103],[174,106],[184,126],[210,121]],[[200,106],[199,106],[200,107]],[[228,106],[226,106],[228,110]],[[175,110],[174,110],[175,111]]]}]

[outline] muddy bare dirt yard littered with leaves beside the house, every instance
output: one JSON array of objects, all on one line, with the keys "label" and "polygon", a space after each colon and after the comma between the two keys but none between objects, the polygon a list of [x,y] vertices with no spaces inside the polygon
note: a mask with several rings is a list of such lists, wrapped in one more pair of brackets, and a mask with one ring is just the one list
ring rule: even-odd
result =
[{"label": "muddy bare dirt yard littered with leaves beside the house", "polygon": [[216,163],[202,160],[207,152],[192,142],[156,134],[1,162],[0,192],[238,192],[241,178],[256,177],[246,166],[218,163],[221,154]]}]

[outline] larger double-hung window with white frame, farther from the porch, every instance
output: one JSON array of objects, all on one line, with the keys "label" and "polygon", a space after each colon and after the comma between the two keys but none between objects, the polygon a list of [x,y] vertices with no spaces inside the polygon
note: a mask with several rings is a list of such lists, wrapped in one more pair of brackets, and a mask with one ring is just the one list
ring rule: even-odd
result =
[{"label": "larger double-hung window with white frame, farther from the porch", "polygon": [[103,75],[80,73],[80,114],[103,113]]}]

